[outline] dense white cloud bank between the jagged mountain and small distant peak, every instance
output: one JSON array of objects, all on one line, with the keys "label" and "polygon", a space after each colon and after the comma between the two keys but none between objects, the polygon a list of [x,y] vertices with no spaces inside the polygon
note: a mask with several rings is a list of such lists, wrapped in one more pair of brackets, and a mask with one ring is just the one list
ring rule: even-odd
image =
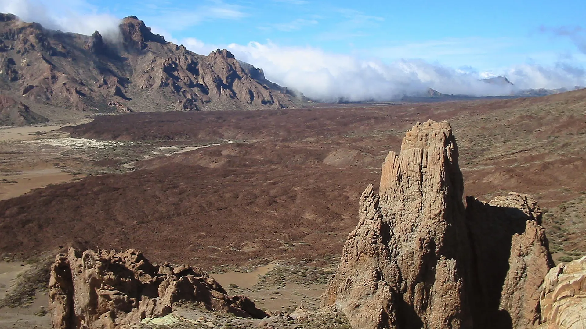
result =
[{"label": "dense white cloud bank between the jagged mountain and small distant peak", "polygon": [[478,75],[459,73],[423,60],[380,60],[323,52],[311,47],[280,47],[274,43],[230,44],[241,60],[262,67],[275,83],[295,88],[322,101],[390,100],[427,91],[447,94],[502,95],[510,86],[486,84]]}]

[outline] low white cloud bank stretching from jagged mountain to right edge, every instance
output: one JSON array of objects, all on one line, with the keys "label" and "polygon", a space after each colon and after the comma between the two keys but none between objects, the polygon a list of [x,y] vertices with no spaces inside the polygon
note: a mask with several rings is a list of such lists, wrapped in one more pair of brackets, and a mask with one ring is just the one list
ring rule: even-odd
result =
[{"label": "low white cloud bank stretching from jagged mountain to right edge", "polygon": [[[204,50],[205,45],[199,43],[197,49]],[[420,95],[427,88],[444,94],[496,96],[529,88],[572,89],[586,84],[584,69],[568,63],[553,67],[523,64],[493,74],[456,70],[417,59],[382,63],[273,43],[230,44],[228,49],[240,60],[263,68],[269,80],[321,101],[383,101]],[[494,76],[505,76],[513,85],[480,80]]]}]

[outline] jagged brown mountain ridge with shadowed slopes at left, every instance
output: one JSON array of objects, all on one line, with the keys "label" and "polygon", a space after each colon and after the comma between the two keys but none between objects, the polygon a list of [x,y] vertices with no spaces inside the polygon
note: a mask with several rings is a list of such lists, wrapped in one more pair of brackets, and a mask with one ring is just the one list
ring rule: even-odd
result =
[{"label": "jagged brown mountain ridge with shadowed slopes at left", "polygon": [[[166,42],[136,16],[109,40],[0,14],[0,90],[68,111],[190,111],[296,107],[295,93],[227,50],[208,56]],[[65,111],[65,110],[64,110]]]}]

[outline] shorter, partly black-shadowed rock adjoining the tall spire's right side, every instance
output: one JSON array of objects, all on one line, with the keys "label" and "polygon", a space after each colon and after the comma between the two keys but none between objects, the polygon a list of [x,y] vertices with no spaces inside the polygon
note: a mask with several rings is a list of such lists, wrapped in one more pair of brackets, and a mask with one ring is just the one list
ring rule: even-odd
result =
[{"label": "shorter, partly black-shadowed rock adjoining the tall spire's right side", "polygon": [[553,261],[536,201],[511,192],[489,203],[466,197],[466,204],[475,251],[475,327],[539,324],[539,287]]}]

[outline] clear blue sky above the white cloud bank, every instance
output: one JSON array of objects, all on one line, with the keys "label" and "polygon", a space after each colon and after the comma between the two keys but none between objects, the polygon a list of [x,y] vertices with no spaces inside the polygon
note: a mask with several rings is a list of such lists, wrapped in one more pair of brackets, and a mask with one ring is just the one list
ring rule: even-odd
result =
[{"label": "clear blue sky above the white cloud bank", "polygon": [[580,26],[586,1],[95,1],[98,11],[137,15],[177,40],[208,44],[271,40],[281,46],[383,60],[422,58],[479,70],[520,61],[553,64],[579,52],[542,27]]}]

